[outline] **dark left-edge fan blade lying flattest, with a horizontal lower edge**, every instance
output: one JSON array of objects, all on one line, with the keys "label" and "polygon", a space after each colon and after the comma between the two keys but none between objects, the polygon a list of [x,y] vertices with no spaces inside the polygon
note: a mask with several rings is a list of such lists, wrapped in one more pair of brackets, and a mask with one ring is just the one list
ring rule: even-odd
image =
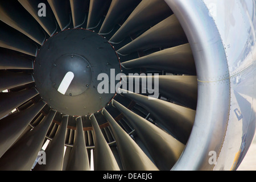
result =
[{"label": "dark left-edge fan blade lying flattest, with a horizontal lower edge", "polygon": [[0,69],[33,69],[32,59],[20,56],[16,51],[0,48]]}]

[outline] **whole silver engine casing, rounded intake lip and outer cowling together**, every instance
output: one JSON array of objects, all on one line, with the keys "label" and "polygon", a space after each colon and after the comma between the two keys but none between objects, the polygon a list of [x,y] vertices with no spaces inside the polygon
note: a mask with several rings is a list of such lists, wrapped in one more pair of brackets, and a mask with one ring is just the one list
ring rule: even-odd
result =
[{"label": "whole silver engine casing, rounded intake lip and outer cowling together", "polygon": [[255,2],[166,2],[188,37],[199,85],[195,124],[173,169],[236,169],[255,135]]}]

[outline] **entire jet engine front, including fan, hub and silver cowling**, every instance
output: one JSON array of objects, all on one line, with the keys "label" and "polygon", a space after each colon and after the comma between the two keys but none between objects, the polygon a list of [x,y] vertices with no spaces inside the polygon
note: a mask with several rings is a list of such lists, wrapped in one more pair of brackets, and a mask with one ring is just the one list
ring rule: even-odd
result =
[{"label": "entire jet engine front, including fan, hub and silver cowling", "polygon": [[[238,168],[256,126],[254,0],[11,3],[0,3],[1,170]],[[158,73],[157,99],[98,93],[111,68]]]}]

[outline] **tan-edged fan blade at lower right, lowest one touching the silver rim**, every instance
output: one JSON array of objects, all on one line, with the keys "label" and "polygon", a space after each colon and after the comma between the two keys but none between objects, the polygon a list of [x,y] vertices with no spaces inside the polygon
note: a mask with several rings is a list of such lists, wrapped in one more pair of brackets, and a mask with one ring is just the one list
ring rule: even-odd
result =
[{"label": "tan-edged fan blade at lower right, lowest one touching the silver rim", "polygon": [[159,129],[151,122],[133,113],[119,102],[112,100],[112,105],[116,107],[128,119],[135,129],[139,138],[148,151],[156,166],[160,170],[170,170],[176,163],[184,144],[173,138],[170,134]]}]

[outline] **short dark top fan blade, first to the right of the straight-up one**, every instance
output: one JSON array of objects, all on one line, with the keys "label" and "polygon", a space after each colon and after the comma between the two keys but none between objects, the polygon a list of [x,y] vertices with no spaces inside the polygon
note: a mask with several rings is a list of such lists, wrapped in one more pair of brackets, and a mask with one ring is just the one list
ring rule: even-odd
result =
[{"label": "short dark top fan blade, first to the right of the straight-up one", "polygon": [[101,16],[109,8],[110,3],[110,0],[90,0],[87,29],[98,26]]}]

